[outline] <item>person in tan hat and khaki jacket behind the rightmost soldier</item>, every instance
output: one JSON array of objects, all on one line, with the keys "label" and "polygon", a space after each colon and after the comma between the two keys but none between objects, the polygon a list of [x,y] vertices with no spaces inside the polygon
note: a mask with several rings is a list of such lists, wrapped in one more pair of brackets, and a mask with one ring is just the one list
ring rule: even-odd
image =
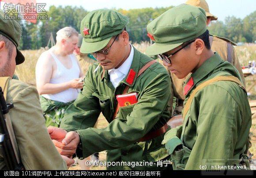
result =
[{"label": "person in tan hat and khaki jacket behind the rightmost soldier", "polygon": [[[205,0],[187,0],[186,4],[201,7],[205,10],[207,16],[207,26],[211,23],[211,21],[218,19],[218,17],[210,13],[208,4]],[[243,75],[239,59],[237,58],[236,51],[233,47],[233,45],[236,44],[229,39],[210,35],[210,45],[213,52],[218,52],[219,56],[221,56],[223,60],[230,62],[234,67],[236,67],[245,86],[245,77]],[[183,101],[185,99],[185,96],[183,94],[183,83],[186,81],[186,79],[190,77],[190,74],[184,79],[177,78],[173,73],[171,73],[170,75],[173,82],[174,96],[178,99],[177,106],[181,106],[177,107],[177,110],[175,110],[176,114],[179,114],[181,112],[179,108],[182,108]]]}]

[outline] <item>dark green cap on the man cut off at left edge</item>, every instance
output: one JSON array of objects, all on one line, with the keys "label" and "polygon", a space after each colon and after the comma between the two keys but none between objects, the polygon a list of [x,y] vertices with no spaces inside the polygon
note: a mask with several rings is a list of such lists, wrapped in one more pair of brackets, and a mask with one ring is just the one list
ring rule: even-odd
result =
[{"label": "dark green cap on the man cut off at left edge", "polygon": [[18,22],[15,20],[4,19],[4,16],[0,13],[0,34],[7,37],[16,46],[16,65],[23,63],[25,60],[23,54],[18,50],[21,33],[22,29]]}]

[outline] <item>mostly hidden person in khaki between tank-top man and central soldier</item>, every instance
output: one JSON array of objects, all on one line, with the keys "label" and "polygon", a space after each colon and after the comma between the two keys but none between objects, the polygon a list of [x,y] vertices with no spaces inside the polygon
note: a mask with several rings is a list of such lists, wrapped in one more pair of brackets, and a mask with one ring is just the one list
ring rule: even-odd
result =
[{"label": "mostly hidden person in khaki between tank-top man and central soldier", "polygon": [[78,48],[75,49],[74,53],[75,53],[75,56],[80,64],[83,74],[85,75],[89,69],[89,66],[96,63],[97,60],[91,54],[83,54],[80,52],[80,48],[81,48],[82,41],[83,41],[83,36],[81,34],[79,34],[78,37],[79,37],[79,41],[77,43]]}]

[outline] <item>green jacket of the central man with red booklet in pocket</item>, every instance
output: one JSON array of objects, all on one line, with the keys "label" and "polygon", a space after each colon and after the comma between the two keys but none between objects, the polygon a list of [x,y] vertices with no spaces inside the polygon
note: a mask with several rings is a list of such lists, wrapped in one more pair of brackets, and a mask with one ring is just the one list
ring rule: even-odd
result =
[{"label": "green jacket of the central man with red booklet in pocket", "polygon": [[[126,76],[115,89],[109,79],[108,71],[103,74],[102,67],[94,73],[97,64],[89,67],[84,79],[83,91],[75,102],[69,106],[61,121],[60,127],[76,130],[83,145],[83,157],[95,152],[108,150],[107,161],[156,162],[166,158],[166,149],[161,145],[164,134],[149,141],[137,142],[151,130],[161,128],[170,118],[171,98],[169,75],[160,63],[154,63],[143,74],[137,77],[139,69],[152,59],[134,48],[131,69],[136,76],[130,85]],[[103,77],[103,78],[102,78]],[[128,93],[137,92],[138,102],[120,107],[113,120],[117,100],[115,96],[122,94],[125,85],[129,85]],[[100,112],[109,125],[104,129],[96,129]],[[156,167],[155,169],[161,169]],[[154,167],[113,167],[113,169],[154,169]],[[108,169],[112,169],[108,167]]]}]

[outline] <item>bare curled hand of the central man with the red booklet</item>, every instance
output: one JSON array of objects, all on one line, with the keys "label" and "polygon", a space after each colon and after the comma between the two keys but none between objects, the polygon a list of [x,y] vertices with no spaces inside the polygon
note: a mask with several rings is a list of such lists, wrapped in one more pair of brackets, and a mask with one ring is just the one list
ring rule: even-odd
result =
[{"label": "bare curled hand of the central man with the red booklet", "polygon": [[62,142],[53,140],[53,144],[61,155],[69,157],[75,154],[79,141],[79,134],[71,131],[66,134]]}]

